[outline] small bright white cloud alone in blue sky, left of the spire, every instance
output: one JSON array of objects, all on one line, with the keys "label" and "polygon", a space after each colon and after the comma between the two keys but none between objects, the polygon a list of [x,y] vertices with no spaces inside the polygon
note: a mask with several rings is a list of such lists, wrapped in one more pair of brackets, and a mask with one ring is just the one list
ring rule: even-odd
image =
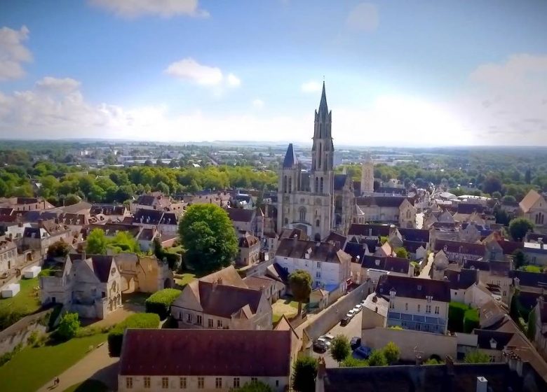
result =
[{"label": "small bright white cloud alone in blue sky, left of the spire", "polygon": [[224,73],[217,66],[202,65],[191,57],[169,64],[164,71],[175,78],[190,80],[198,85],[238,87],[241,79],[234,73]]}]

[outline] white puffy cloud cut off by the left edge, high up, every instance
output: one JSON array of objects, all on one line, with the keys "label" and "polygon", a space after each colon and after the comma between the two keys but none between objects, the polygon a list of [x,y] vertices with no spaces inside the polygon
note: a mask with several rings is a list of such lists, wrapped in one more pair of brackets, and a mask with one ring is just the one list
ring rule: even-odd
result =
[{"label": "white puffy cloud cut off by the left edge, high up", "polygon": [[21,78],[25,75],[22,63],[30,62],[32,55],[23,45],[29,37],[29,29],[22,26],[19,30],[9,27],[0,29],[0,80]]}]

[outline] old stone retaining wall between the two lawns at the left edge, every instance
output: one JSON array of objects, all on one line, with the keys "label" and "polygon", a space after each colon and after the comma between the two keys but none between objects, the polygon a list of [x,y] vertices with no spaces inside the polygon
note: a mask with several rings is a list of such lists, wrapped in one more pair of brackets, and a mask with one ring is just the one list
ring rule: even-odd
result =
[{"label": "old stone retaining wall between the two lawns at the left edge", "polygon": [[48,329],[49,314],[54,308],[40,311],[36,314],[21,318],[17,323],[0,332],[0,356],[13,351],[15,346],[27,344],[27,339],[32,332],[45,333]]}]

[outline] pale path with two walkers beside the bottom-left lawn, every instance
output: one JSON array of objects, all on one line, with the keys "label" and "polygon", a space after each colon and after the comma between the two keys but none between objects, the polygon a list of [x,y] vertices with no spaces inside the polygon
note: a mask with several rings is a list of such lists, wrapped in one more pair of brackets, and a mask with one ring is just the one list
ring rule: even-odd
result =
[{"label": "pale path with two walkers beside the bottom-left lawn", "polygon": [[83,357],[76,365],[69,367],[60,374],[59,385],[53,386],[53,379],[42,386],[39,392],[62,392],[69,386],[79,384],[86,379],[97,379],[113,391],[117,388],[117,364],[119,358],[110,358],[108,355],[108,344],[105,342],[98,349],[94,349],[87,356]]}]

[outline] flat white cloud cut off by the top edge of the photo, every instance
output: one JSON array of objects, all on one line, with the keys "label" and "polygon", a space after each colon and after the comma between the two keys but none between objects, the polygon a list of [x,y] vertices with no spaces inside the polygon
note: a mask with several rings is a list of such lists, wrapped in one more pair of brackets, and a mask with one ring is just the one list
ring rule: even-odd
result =
[{"label": "flat white cloud cut off by the top edge of the photo", "polygon": [[93,6],[112,11],[123,18],[158,15],[170,18],[188,15],[206,18],[209,13],[198,8],[198,0],[90,0]]}]

